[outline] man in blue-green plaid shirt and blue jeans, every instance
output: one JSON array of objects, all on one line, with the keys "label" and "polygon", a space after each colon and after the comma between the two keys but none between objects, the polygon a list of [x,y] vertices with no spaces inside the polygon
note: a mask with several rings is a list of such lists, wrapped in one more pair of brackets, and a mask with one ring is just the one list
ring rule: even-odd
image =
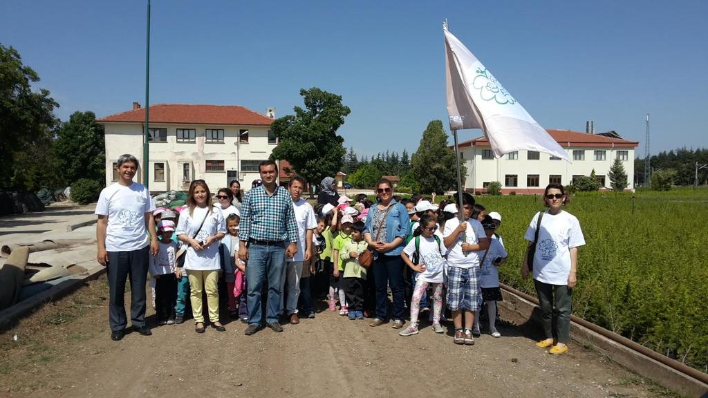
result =
[{"label": "man in blue-green plaid shirt and blue jeans", "polygon": [[[258,164],[263,186],[246,193],[241,205],[239,225],[239,258],[248,263],[247,302],[249,307],[249,327],[245,334],[250,336],[263,326],[261,291],[263,282],[268,283],[265,324],[273,331],[282,331],[278,323],[282,291],[282,275],[285,258],[297,253],[297,224],[292,198],[286,188],[275,183],[278,165],[266,160]],[[287,249],[286,249],[287,246]]]}]

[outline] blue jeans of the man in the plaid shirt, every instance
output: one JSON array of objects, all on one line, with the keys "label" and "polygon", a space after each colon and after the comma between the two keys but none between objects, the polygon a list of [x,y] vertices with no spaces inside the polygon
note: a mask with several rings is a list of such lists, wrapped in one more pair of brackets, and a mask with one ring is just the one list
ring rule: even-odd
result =
[{"label": "blue jeans of the man in the plaid shirt", "polygon": [[285,269],[285,244],[263,246],[249,244],[249,264],[246,266],[248,283],[249,324],[263,326],[261,307],[264,283],[268,284],[265,323],[278,322],[282,291],[282,273]]}]

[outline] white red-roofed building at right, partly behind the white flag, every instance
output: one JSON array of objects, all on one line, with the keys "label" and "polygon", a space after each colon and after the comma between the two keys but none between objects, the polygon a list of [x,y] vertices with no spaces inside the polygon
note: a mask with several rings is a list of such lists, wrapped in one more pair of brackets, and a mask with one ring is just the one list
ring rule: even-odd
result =
[{"label": "white red-roofed building at right, partly behind the white flag", "polygon": [[499,181],[502,193],[543,193],[549,183],[568,185],[577,176],[595,176],[610,187],[610,171],[615,157],[619,157],[627,172],[629,186],[634,188],[634,149],[639,142],[622,140],[615,132],[589,134],[571,130],[548,130],[549,134],[568,153],[571,164],[549,154],[518,151],[494,157],[486,137],[459,143],[459,156],[467,166],[464,186],[467,191],[486,191],[492,181]]}]

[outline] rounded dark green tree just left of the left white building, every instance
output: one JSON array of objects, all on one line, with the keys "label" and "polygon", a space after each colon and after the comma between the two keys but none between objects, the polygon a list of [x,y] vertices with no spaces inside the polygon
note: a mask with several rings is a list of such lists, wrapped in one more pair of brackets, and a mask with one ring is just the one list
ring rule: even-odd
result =
[{"label": "rounded dark green tree just left of the left white building", "polygon": [[62,123],[54,143],[59,173],[69,185],[79,178],[105,179],[105,133],[93,112],[74,112]]}]

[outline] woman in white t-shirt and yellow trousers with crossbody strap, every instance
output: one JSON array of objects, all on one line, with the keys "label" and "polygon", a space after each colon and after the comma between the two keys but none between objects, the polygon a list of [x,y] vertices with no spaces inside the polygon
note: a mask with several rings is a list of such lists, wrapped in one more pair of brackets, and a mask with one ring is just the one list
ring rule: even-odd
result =
[{"label": "woman in white t-shirt and yellow trousers with crossbody strap", "polygon": [[212,195],[204,180],[192,181],[187,198],[188,209],[179,217],[177,238],[188,245],[184,268],[190,285],[195,331],[204,333],[202,288],[207,292],[209,320],[217,331],[225,331],[219,322],[219,240],[226,233],[224,216],[212,204]]}]

